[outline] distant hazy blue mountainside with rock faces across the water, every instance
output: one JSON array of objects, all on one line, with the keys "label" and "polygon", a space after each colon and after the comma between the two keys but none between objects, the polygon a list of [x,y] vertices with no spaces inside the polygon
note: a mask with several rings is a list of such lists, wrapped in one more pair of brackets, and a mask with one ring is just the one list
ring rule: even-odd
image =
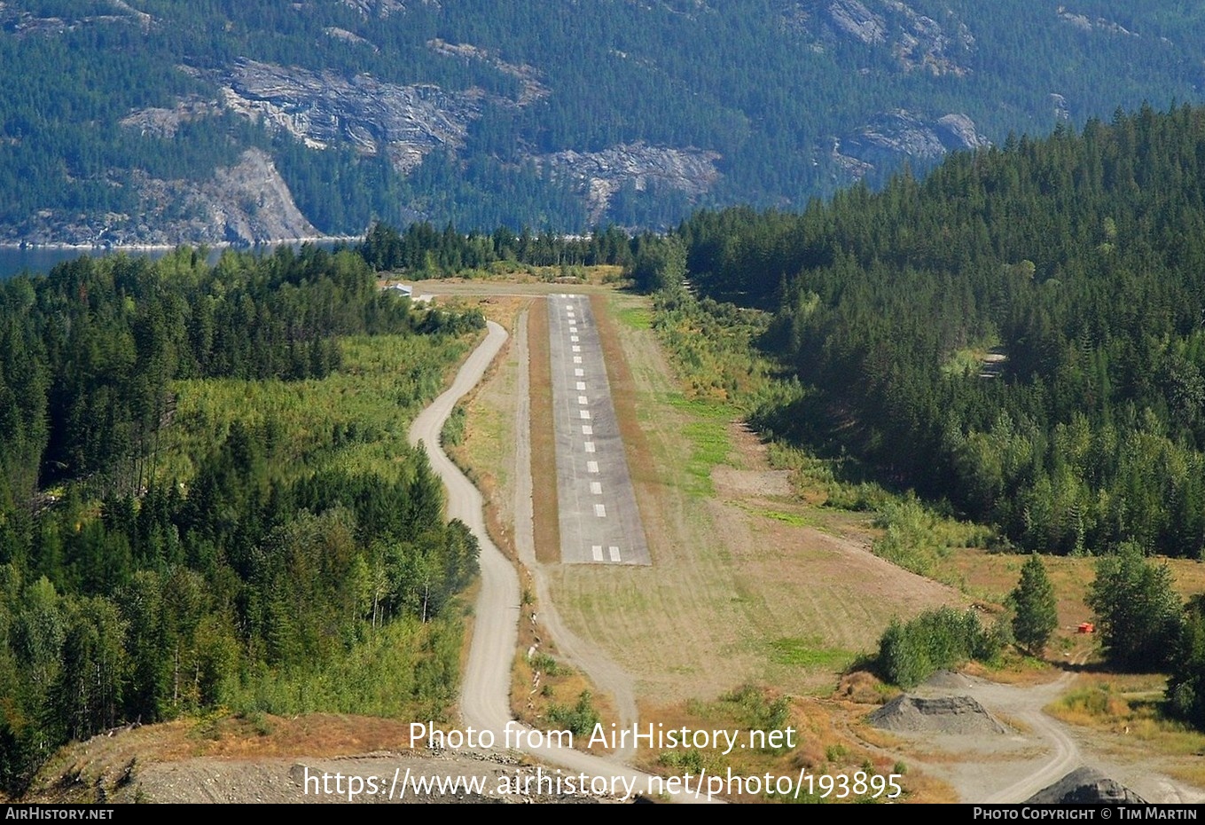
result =
[{"label": "distant hazy blue mountainside with rock faces across the water", "polygon": [[799,209],[901,160],[1198,100],[1203,35],[1166,0],[10,0],[0,240]]}]

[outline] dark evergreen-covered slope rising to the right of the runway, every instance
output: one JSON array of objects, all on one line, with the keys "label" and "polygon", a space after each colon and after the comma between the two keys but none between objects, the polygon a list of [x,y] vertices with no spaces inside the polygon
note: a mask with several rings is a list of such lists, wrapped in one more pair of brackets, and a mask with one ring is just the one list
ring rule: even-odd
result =
[{"label": "dark evergreen-covered slope rising to the right of the runway", "polygon": [[760,422],[1025,549],[1205,548],[1205,110],[957,154],[801,215],[701,212],[705,293],[776,308]]}]

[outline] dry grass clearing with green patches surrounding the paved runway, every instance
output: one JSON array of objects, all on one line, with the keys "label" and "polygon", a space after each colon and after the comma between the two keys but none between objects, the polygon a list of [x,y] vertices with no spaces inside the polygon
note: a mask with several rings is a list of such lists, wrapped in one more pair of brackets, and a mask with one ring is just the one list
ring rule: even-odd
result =
[{"label": "dry grass clearing with green patches surrounding the paved runway", "polygon": [[[539,347],[547,340],[541,303],[533,305],[528,335],[534,416]],[[546,566],[560,618],[624,663],[637,700],[646,707],[711,700],[746,681],[828,692],[841,668],[874,648],[892,615],[965,603],[952,589],[876,558],[864,527],[841,525],[853,539],[827,532],[831,514],[795,501],[742,425],[683,397],[648,328],[647,306],[630,296],[593,300],[653,566]],[[493,380],[509,380],[504,375]],[[470,428],[477,415],[494,421],[513,410],[513,398],[487,387]],[[536,479],[548,458],[537,429]],[[540,548],[547,504],[536,497],[535,507]],[[602,615],[606,622],[598,621]]]}]

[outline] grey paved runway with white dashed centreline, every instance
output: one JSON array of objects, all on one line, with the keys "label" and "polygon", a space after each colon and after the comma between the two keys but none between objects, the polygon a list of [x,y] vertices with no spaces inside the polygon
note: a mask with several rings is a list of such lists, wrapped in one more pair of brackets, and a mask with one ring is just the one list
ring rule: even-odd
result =
[{"label": "grey paved runway with white dashed centreline", "polygon": [[651,564],[588,296],[548,297],[560,560]]}]

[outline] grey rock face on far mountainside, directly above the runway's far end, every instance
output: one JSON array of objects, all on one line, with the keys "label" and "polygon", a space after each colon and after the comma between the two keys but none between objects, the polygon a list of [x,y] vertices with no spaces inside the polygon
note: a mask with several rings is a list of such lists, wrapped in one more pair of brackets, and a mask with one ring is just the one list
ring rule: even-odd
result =
[{"label": "grey rock face on far mountainside, directly above the runway's far end", "polygon": [[627,185],[637,192],[666,187],[695,199],[719,179],[719,154],[698,148],[621,144],[601,152],[556,152],[534,158],[554,177],[570,180],[586,197],[592,223],[599,223],[611,198]]}]

